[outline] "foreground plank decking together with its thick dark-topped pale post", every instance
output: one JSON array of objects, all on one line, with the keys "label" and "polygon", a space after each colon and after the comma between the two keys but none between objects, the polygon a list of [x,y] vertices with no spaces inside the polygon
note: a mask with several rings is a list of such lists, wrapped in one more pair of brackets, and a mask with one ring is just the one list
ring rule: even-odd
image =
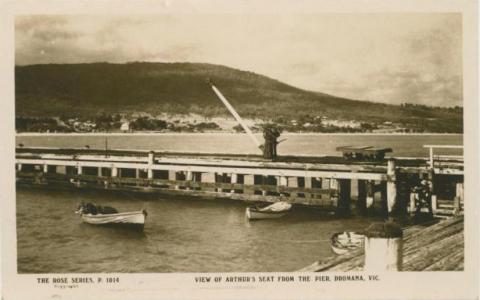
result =
[{"label": "foreground plank decking together with its thick dark-topped pale post", "polygon": [[[388,225],[375,224],[367,228],[369,241],[365,242],[365,247],[345,255],[322,258],[297,271],[464,270],[463,216],[448,218],[433,225],[414,225],[400,231],[397,229],[396,232],[385,227]],[[374,246],[372,240],[375,240]]]}]

